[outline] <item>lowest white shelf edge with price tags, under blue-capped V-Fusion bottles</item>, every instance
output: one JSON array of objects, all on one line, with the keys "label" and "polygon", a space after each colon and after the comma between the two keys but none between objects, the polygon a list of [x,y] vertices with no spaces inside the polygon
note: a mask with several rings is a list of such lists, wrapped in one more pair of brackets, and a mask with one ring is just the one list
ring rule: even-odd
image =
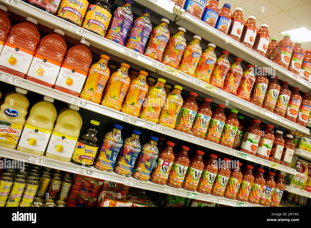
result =
[{"label": "lowest white shelf edge with price tags, under blue-capped V-Fusion bottles", "polygon": [[0,156],[4,158],[19,160],[19,161],[30,162],[33,164],[37,164],[37,165],[45,166],[49,168],[60,169],[60,170],[67,171],[67,172],[82,174],[82,175],[89,176],[89,177],[100,178],[100,179],[104,179],[107,181],[122,183],[128,186],[133,186],[133,187],[141,188],[145,190],[173,194],[173,195],[178,195],[178,196],[192,198],[192,199],[199,199],[199,200],[224,204],[224,205],[233,206],[233,207],[258,207],[258,206],[260,207],[260,205],[254,205],[252,203],[243,203],[237,200],[206,195],[206,194],[202,194],[199,192],[189,192],[184,189],[176,189],[176,188],[169,187],[167,185],[164,185],[164,186],[158,185],[158,184],[152,183],[151,181],[140,181],[133,177],[124,177],[115,172],[104,172],[104,171],[98,170],[95,167],[90,167],[90,168],[82,167],[80,165],[76,165],[70,162],[61,162],[58,160],[46,158],[45,156],[35,156],[35,155],[24,153],[18,150],[11,150],[7,148],[3,148],[3,147],[0,147]]}]

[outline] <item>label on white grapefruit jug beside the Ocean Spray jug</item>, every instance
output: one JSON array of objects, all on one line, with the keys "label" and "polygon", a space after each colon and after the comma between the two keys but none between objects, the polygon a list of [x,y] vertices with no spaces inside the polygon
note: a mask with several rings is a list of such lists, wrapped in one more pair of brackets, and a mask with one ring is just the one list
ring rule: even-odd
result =
[{"label": "label on white grapefruit jug beside the Ocean Spray jug", "polygon": [[45,151],[52,131],[25,124],[19,146],[36,151]]}]

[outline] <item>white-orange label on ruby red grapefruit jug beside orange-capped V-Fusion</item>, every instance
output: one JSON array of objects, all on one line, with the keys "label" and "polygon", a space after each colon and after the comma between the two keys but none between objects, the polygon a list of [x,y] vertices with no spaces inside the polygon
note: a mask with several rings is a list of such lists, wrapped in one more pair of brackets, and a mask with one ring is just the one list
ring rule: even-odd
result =
[{"label": "white-orange label on ruby red grapefruit jug beside orange-capped V-Fusion", "polygon": [[62,65],[55,85],[80,93],[84,85],[86,76],[86,72],[78,69],[73,69],[68,65]]}]

